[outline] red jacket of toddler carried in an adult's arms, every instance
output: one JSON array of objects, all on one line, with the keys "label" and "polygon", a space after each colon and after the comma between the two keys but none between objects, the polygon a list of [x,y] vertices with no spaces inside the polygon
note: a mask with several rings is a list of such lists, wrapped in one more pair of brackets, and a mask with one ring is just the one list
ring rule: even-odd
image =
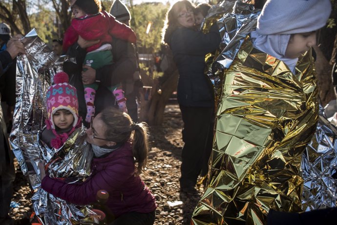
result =
[{"label": "red jacket of toddler carried in an adult's arms", "polygon": [[93,51],[102,44],[111,43],[112,37],[123,39],[131,43],[136,43],[136,35],[126,24],[118,22],[115,18],[102,11],[86,17],[74,18],[71,25],[65,31],[63,37],[63,52],[75,44],[81,36],[85,40],[100,40],[99,43],[86,48],[86,51]]}]

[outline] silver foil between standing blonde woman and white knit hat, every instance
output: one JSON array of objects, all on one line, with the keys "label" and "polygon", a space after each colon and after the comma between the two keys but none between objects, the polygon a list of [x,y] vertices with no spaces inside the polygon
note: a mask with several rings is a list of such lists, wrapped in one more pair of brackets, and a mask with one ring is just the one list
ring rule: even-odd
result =
[{"label": "silver foil between standing blonde woman and white knit hat", "polygon": [[255,29],[260,12],[251,4],[232,0],[222,1],[210,9],[203,31],[208,32],[216,22],[221,35],[220,49],[214,54],[215,60],[212,53],[206,56],[206,74],[214,87],[215,102],[221,94],[224,72],[231,66],[246,36]]}]

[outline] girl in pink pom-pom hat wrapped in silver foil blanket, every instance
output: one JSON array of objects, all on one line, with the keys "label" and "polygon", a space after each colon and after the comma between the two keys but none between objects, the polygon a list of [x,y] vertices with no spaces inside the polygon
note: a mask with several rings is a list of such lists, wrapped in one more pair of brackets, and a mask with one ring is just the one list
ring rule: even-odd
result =
[{"label": "girl in pink pom-pom hat wrapped in silver foil blanket", "polygon": [[[38,164],[40,174],[47,170],[50,177],[66,183],[84,181],[91,173],[93,157],[92,150],[85,145],[76,89],[68,84],[68,80],[65,72],[55,74],[54,85],[46,93],[46,128],[38,134],[42,157]],[[86,210],[88,205],[70,204],[41,188],[33,195],[32,204],[35,212],[35,216],[31,217],[32,224],[72,224],[71,220],[82,219],[94,224],[94,221],[98,221],[94,213],[78,213]],[[63,212],[63,215],[56,216],[55,212]],[[64,212],[67,212],[66,215]]]}]

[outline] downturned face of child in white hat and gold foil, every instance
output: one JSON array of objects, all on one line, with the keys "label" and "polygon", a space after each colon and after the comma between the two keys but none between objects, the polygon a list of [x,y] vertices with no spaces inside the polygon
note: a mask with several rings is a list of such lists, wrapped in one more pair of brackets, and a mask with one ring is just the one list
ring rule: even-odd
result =
[{"label": "downturned face of child in white hat and gold foil", "polygon": [[294,34],[290,37],[285,57],[295,59],[316,45],[316,31]]}]

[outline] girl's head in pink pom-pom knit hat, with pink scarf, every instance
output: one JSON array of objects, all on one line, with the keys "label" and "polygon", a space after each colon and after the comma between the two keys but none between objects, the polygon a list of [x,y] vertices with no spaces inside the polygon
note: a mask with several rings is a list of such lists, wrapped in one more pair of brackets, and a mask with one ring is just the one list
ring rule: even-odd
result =
[{"label": "girl's head in pink pom-pom knit hat, with pink scarf", "polygon": [[82,126],[76,89],[68,82],[68,74],[59,72],[47,91],[46,128],[41,139],[50,148],[61,148],[69,135]]}]

